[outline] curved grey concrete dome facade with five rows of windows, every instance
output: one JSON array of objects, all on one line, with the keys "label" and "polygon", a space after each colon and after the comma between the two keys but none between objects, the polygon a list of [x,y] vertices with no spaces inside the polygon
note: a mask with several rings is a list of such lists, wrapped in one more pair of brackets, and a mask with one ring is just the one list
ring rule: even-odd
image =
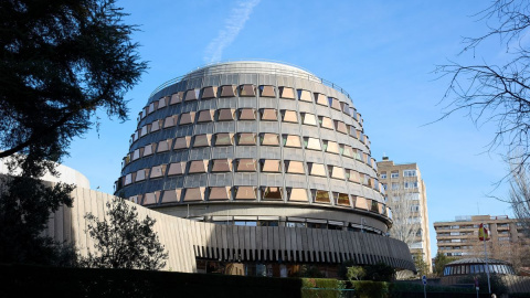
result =
[{"label": "curved grey concrete dome facade with five rows of windows", "polygon": [[[392,220],[377,178],[348,93],[298,67],[243,61],[199,68],[151,94],[116,194],[198,222],[385,238]],[[206,251],[195,256],[221,259]],[[340,263],[344,252],[319,259]],[[285,259],[278,254],[269,259]],[[414,269],[407,248],[399,258],[396,267]]]}]

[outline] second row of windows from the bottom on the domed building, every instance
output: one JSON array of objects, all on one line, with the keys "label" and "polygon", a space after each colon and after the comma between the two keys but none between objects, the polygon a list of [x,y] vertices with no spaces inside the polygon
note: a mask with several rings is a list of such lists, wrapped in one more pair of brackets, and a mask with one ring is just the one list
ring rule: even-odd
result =
[{"label": "second row of windows from the bottom on the domed building", "polygon": [[[169,167],[168,167],[169,166]],[[173,162],[169,164],[160,164],[149,169],[140,169],[136,172],[128,173],[118,180],[117,190],[135,182],[141,182],[146,179],[156,179],[166,175],[182,175],[194,173],[221,173],[221,172],[256,172],[263,173],[293,173],[305,174],[306,169],[309,175],[329,177],[333,179],[348,180],[358,184],[372,188],[379,192],[382,191],[381,183],[369,174],[359,173],[356,170],[344,169],[337,166],[325,166],[322,163],[277,159],[262,159],[259,162],[255,159],[214,159],[214,160],[192,160]]]}]

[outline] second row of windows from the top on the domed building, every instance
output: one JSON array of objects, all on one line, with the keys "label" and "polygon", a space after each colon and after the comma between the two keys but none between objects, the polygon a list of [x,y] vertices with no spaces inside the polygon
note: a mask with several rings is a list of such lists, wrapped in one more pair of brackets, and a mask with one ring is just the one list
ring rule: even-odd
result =
[{"label": "second row of windows from the top on the domed building", "polygon": [[[298,114],[295,110],[280,110],[280,115],[274,108],[262,108],[259,109],[261,119],[264,121],[274,121],[278,119],[278,116],[282,117],[282,121],[284,123],[298,123]],[[255,120],[257,116],[256,109],[254,108],[240,108],[237,110],[231,108],[222,108],[222,109],[205,109],[199,111],[190,111],[183,113],[180,116],[173,115],[166,117],[166,119],[158,119],[148,125],[140,127],[135,134],[131,135],[130,142],[135,142],[136,140],[140,139],[141,137],[159,131],[161,128],[169,128],[174,127],[177,125],[189,125],[193,123],[209,123],[214,121],[225,121],[225,120],[234,120],[239,117],[240,120]],[[333,128],[341,134],[350,135],[351,137],[358,139],[365,146],[370,146],[370,140],[368,136],[363,135],[361,130],[356,129],[353,126],[346,125],[343,121],[332,120],[329,117],[325,116],[316,116],[308,113],[300,113],[301,124],[309,125],[309,126],[317,126],[317,124],[324,128],[333,130]]]}]

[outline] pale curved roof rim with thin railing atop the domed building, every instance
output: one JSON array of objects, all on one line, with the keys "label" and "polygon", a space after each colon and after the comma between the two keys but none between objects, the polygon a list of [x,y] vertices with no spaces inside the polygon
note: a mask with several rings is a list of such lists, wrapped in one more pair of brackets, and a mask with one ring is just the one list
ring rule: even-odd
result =
[{"label": "pale curved roof rim with thin railing atop the domed building", "polygon": [[[299,67],[299,66],[296,66],[296,65],[293,65],[293,64],[288,64],[288,63],[284,63],[284,62],[276,62],[276,61],[266,61],[266,60],[237,60],[237,61],[224,61],[224,62],[219,62],[219,63],[210,63],[210,64],[206,64],[204,66],[201,66],[201,67],[198,67],[197,70],[194,71],[191,71],[189,72],[188,74],[186,75],[181,75],[181,76],[178,76],[178,77],[174,77],[174,78],[171,78],[167,82],[165,82],[163,84],[161,84],[160,86],[156,87],[155,91],[151,92],[151,94],[149,95],[149,98],[151,98],[153,95],[156,95],[158,92],[160,92],[161,89],[168,87],[168,86],[171,86],[173,84],[177,84],[179,82],[182,82],[184,79],[193,79],[193,78],[198,78],[198,77],[202,77],[204,76],[205,74],[206,75],[220,75],[220,74],[225,74],[226,73],[226,70],[215,70],[215,68],[210,68],[208,71],[208,73],[202,73],[200,72],[201,70],[208,70],[209,67],[212,67],[212,66],[215,66],[215,65],[222,65],[224,63],[227,63],[227,62],[241,62],[241,63],[244,63],[244,62],[261,62],[261,61],[264,61],[264,62],[272,62],[272,63],[278,63],[278,64],[284,64],[284,65],[287,65],[287,66],[292,66],[292,67],[297,67],[299,68],[300,71],[303,72],[306,72],[306,74],[304,74],[303,72],[297,72],[297,71],[289,71],[289,70],[282,70],[282,68],[263,68],[263,67],[250,67],[250,66],[237,66],[237,67],[232,67],[230,71],[231,72],[243,72],[244,73],[256,73],[256,74],[259,74],[259,73],[268,73],[268,74],[274,74],[274,75],[285,75],[285,76],[294,76],[294,77],[298,77],[298,78],[307,78],[309,81],[315,81],[315,82],[318,82],[320,84],[324,84],[326,86],[329,86],[329,87],[332,87],[333,89],[337,89],[339,91],[340,93],[344,94],[348,98],[351,99],[350,97],[350,94],[348,94],[344,89],[342,89],[340,86],[336,85],[335,83],[330,82],[330,81],[327,81],[325,78],[321,78],[321,77],[318,77],[314,74],[311,74],[310,72]],[[215,71],[214,71],[215,70]]]}]

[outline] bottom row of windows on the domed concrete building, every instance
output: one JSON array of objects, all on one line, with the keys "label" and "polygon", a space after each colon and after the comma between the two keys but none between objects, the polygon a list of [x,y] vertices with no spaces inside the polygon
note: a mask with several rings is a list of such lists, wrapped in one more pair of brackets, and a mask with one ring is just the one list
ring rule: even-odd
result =
[{"label": "bottom row of windows on the domed concrete building", "polygon": [[[130,196],[129,200],[142,205],[199,202],[199,201],[226,201],[226,200],[261,200],[284,201],[283,188],[278,187],[216,187],[216,188],[189,188],[166,190]],[[338,206],[354,207],[364,211],[386,215],[390,210],[375,200],[365,199],[347,193],[332,192],[330,196],[327,190],[287,188],[287,201],[333,204]],[[350,200],[351,199],[351,200]]]}]

